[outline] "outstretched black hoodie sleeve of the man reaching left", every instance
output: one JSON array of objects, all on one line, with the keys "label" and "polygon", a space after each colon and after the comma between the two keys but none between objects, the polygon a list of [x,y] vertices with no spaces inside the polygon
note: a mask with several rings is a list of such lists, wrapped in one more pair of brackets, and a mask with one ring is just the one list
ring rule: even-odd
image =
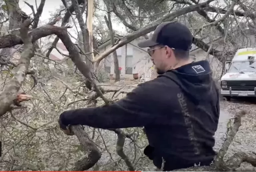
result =
[{"label": "outstretched black hoodie sleeve of the man reaching left", "polygon": [[150,92],[144,84],[114,104],[64,111],[60,120],[66,126],[81,124],[103,129],[145,126],[154,120],[154,115],[147,108],[150,106],[146,103],[150,101]]}]

